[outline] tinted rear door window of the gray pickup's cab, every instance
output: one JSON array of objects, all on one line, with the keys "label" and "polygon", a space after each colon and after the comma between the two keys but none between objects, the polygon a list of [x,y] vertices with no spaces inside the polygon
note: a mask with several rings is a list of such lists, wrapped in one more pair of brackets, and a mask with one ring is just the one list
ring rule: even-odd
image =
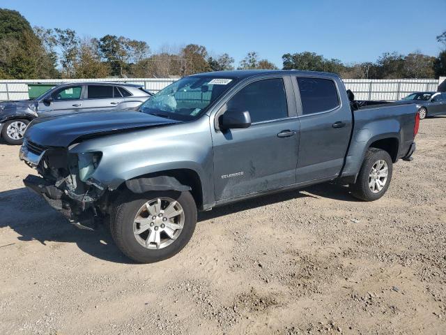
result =
[{"label": "tinted rear door window of the gray pickup's cab", "polygon": [[339,106],[334,82],[321,78],[297,78],[304,115],[332,110]]}]

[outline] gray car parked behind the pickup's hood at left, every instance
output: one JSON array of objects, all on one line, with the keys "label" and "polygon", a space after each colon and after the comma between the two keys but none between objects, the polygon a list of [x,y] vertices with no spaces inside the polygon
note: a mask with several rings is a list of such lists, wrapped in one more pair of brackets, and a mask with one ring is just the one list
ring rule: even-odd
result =
[{"label": "gray car parked behind the pickup's hood at left", "polygon": [[0,103],[0,136],[9,144],[21,144],[26,126],[36,117],[95,110],[136,110],[151,95],[137,84],[61,84],[33,100]]}]

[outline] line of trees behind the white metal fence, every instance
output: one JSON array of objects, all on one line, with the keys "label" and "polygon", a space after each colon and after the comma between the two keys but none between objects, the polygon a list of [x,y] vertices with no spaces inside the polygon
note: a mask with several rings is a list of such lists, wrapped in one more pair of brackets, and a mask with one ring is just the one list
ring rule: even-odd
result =
[{"label": "line of trees behind the white metal fence", "polygon": [[[431,57],[419,51],[385,52],[375,62],[344,64],[314,52],[287,53],[283,69],[338,73],[344,78],[432,78],[446,75],[446,31],[437,36],[443,51]],[[0,8],[0,79],[170,77],[216,70],[277,69],[257,52],[235,66],[227,53],[210,54],[188,44],[153,52],[143,40],[107,34],[81,38],[72,29],[31,24],[15,10]]]}]

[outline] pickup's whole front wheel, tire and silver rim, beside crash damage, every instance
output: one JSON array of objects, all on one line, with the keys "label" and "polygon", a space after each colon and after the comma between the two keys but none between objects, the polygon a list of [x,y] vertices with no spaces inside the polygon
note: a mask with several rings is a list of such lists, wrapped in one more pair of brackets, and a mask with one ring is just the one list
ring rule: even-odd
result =
[{"label": "pickup's whole front wheel, tire and silver rim, beside crash damage", "polygon": [[110,231],[118,248],[135,262],[170,258],[192,237],[197,205],[190,192],[151,191],[121,199],[112,212]]}]

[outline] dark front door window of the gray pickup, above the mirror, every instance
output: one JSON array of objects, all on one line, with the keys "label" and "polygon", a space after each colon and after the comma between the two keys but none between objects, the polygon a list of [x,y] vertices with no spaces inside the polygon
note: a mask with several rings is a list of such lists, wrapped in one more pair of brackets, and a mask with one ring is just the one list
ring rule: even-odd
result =
[{"label": "dark front door window of the gray pickup, above the mirror", "polygon": [[228,110],[247,110],[252,123],[284,119],[288,117],[284,81],[277,78],[248,84],[226,103],[226,107]]}]

